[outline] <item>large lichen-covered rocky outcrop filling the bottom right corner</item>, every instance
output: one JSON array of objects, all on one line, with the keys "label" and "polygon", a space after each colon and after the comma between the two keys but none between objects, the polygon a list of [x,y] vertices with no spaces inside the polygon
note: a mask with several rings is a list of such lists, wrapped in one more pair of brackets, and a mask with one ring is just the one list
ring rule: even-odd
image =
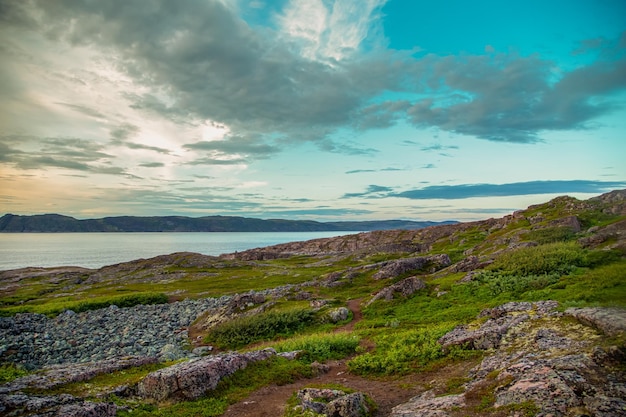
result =
[{"label": "large lichen-covered rocky outcrop filling the bottom right corner", "polygon": [[604,336],[595,330],[623,334],[614,323],[623,323],[626,311],[568,310],[579,323],[564,320],[555,307],[553,301],[507,303],[483,311],[480,317],[489,318],[475,330],[457,328],[442,337],[444,346],[467,345],[490,354],[470,371],[462,394],[436,397],[428,391],[396,406],[391,417],[514,416],[521,407],[539,417],[626,416],[625,352],[603,346]]}]

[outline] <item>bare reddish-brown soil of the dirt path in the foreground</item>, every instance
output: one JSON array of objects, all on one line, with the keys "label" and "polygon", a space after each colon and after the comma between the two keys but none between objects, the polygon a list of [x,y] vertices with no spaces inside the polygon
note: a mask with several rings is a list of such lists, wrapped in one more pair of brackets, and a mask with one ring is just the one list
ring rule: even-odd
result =
[{"label": "bare reddish-brown soil of the dirt path in the foreground", "polygon": [[[352,330],[363,315],[360,309],[361,300],[351,300],[348,308],[352,311],[353,320],[338,328],[336,331]],[[372,346],[371,342],[366,346]],[[467,361],[455,363],[447,367],[431,372],[421,372],[403,377],[394,378],[365,378],[351,374],[346,362],[348,359],[330,361],[326,364],[330,367],[325,374],[311,379],[303,379],[287,385],[270,385],[253,392],[245,400],[231,405],[224,417],[277,417],[285,412],[287,400],[296,391],[308,386],[320,386],[324,384],[340,384],[344,387],[367,394],[378,406],[375,416],[386,416],[391,409],[398,404],[407,402],[412,397],[426,391],[435,389],[445,392],[446,381],[453,377],[462,377],[476,363]]]}]

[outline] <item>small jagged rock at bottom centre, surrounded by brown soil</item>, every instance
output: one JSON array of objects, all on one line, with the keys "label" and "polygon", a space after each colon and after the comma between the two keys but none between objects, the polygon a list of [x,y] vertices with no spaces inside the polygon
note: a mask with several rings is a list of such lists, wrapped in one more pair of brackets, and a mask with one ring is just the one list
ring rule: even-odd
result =
[{"label": "small jagged rock at bottom centre, surrounded by brown soil", "polygon": [[347,394],[336,389],[305,388],[296,394],[302,410],[330,417],[366,417],[370,415],[365,395]]}]

